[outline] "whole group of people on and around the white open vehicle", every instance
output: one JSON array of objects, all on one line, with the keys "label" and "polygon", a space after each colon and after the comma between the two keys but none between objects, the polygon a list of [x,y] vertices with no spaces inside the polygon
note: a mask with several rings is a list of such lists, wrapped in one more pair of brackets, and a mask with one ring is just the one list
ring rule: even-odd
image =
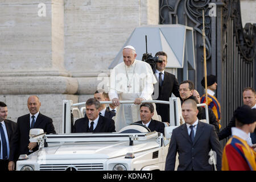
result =
[{"label": "whole group of people on and around the white open vehicle", "polygon": [[[184,80],[179,84],[175,75],[165,71],[165,52],[156,53],[161,62],[156,63],[155,72],[148,63],[136,60],[136,56],[133,46],[123,48],[123,62],[110,73],[109,93],[97,90],[94,97],[86,101],[85,116],[75,121],[72,133],[111,133],[137,122],[150,131],[164,134],[164,122],[170,123],[169,105],[142,101],[152,100],[152,95],[156,100],[169,101],[174,94],[181,100],[185,123],[172,132],[166,170],[175,169],[176,154],[179,155],[178,170],[256,170],[256,93],[253,88],[243,90],[243,105],[234,111],[228,126],[221,129],[221,106],[214,96],[216,76],[207,76],[206,99],[205,94],[200,97],[192,81]],[[205,88],[205,78],[201,85]],[[121,105],[122,100],[131,100],[133,104]],[[112,104],[106,107],[100,101],[112,101]],[[209,124],[203,122],[207,118],[205,107],[197,107],[197,104],[205,102]],[[28,97],[29,114],[13,122],[7,119],[7,105],[0,102],[1,170],[13,171],[20,154],[38,150],[38,144],[29,141],[30,129],[40,128],[47,134],[56,133],[52,119],[40,113],[40,106],[37,96]],[[222,150],[220,140],[230,136]],[[210,151],[215,154],[214,164],[209,163]]]}]

